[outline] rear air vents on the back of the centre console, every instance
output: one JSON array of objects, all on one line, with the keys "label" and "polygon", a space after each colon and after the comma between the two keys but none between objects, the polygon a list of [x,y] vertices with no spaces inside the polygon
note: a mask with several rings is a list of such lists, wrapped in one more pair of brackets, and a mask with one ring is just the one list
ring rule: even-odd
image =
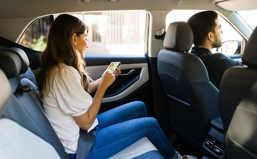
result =
[{"label": "rear air vents on the back of the centre console", "polygon": [[222,156],[223,154],[223,151],[224,151],[223,144],[211,136],[207,137],[207,139],[205,140],[204,146],[218,156]]}]

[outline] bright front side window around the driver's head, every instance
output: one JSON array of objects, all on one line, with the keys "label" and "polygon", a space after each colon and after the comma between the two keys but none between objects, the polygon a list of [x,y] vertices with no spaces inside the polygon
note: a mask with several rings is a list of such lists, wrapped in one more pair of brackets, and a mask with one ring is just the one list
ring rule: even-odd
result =
[{"label": "bright front side window around the driver's head", "polygon": [[[175,21],[187,21],[192,15],[203,10],[173,10],[166,16],[166,29],[169,24]],[[180,16],[177,16],[180,15]],[[240,34],[221,16],[218,17],[222,25],[222,47],[211,50],[213,53],[221,52],[225,55],[240,54],[242,37]]]}]

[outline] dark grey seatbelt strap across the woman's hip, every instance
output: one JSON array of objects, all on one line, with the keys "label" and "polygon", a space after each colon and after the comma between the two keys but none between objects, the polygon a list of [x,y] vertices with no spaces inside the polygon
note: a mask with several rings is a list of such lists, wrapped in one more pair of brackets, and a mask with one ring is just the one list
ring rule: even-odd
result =
[{"label": "dark grey seatbelt strap across the woman's hip", "polygon": [[78,141],[78,149],[76,159],[86,159],[93,143],[95,142],[96,128],[89,133],[80,128],[80,137]]}]

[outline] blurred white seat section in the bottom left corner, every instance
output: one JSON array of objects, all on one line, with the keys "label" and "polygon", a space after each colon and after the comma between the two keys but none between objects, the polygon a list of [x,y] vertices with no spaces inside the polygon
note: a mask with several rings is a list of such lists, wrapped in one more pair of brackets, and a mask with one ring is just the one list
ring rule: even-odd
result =
[{"label": "blurred white seat section in the bottom left corner", "polygon": [[56,150],[45,140],[16,122],[0,119],[0,158],[60,158]]}]

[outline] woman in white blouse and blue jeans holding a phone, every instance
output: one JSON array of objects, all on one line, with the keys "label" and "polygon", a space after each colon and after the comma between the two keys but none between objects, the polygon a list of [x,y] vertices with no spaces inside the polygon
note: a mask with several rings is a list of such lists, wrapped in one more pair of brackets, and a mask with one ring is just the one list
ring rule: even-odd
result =
[{"label": "woman in white blouse and blue jeans holding a phone", "polygon": [[[109,67],[92,81],[85,70],[88,27],[78,18],[62,14],[47,36],[36,74],[43,108],[70,158],[76,157],[79,128],[96,127],[88,158],[108,158],[147,136],[166,158],[181,157],[170,145],[157,120],[147,117],[143,102],[131,102],[98,114],[106,89],[121,73]],[[92,99],[89,95],[96,91]],[[111,151],[110,151],[111,150]]]}]

